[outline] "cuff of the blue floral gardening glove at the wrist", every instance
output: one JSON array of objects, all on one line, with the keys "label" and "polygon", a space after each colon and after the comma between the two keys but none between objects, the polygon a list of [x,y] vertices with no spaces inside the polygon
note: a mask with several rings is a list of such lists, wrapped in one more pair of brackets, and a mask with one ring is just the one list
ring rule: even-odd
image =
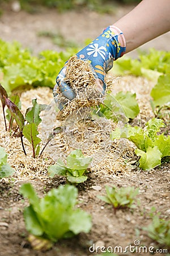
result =
[{"label": "cuff of the blue floral gardening glove at the wrist", "polygon": [[113,38],[112,38],[112,47],[114,52],[114,59],[117,60],[119,57],[122,57],[125,54],[126,51],[126,40],[123,32],[120,30],[120,28],[111,25],[108,27],[109,30],[112,32]]}]

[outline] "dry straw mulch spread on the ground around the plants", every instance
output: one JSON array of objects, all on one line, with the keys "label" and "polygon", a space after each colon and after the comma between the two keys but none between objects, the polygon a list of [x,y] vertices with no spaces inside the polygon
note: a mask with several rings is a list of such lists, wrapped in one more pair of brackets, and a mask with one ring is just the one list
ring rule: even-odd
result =
[{"label": "dry straw mulch spread on the ground around the plants", "polygon": [[[154,85],[152,82],[142,77],[126,76],[118,80],[109,79],[109,83],[113,92],[130,90],[131,92],[137,93],[137,100],[141,112],[136,118],[136,122],[141,119],[147,121],[147,119],[153,117],[148,102],[150,90]],[[65,161],[66,156],[75,148],[82,149],[85,155],[94,158],[90,169],[92,173],[97,172],[97,174],[101,176],[128,175],[133,171],[135,168],[133,164],[137,160],[137,156],[134,154],[133,144],[125,139],[111,142],[109,134],[111,130],[114,130],[116,124],[104,117],[100,119],[90,117],[88,110],[90,106],[94,107],[95,102],[91,102],[92,104],[90,103],[90,105],[81,105],[75,108],[76,111],[74,107],[71,107],[71,111],[69,114],[66,114],[66,118],[59,121],[56,118],[58,110],[56,110],[51,89],[39,87],[22,92],[20,100],[22,101],[23,113],[32,105],[32,98],[37,98],[39,104],[48,104],[51,106],[50,110],[41,113],[42,125],[39,131],[40,137],[42,138],[41,148],[54,127],[58,126],[62,129],[49,143],[42,156],[33,159],[32,148],[29,142],[24,139],[25,150],[27,151],[27,156],[25,156],[20,138],[11,137],[11,135],[5,131],[3,114],[1,112],[0,145],[5,148],[8,154],[8,163],[15,168],[14,178],[18,180],[34,179],[35,177],[45,180],[49,179],[47,175],[48,166],[54,164],[58,158],[62,158]],[[70,102],[70,105],[71,104]],[[69,110],[69,108],[70,106],[67,110]]]}]

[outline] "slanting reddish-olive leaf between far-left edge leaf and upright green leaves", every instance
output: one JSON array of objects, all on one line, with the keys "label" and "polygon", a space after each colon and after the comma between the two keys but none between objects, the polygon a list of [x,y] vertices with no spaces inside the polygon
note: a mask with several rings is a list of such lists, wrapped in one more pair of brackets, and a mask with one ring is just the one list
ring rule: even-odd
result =
[{"label": "slanting reddish-olive leaf between far-left edge leaf and upright green leaves", "polygon": [[8,110],[10,110],[10,113],[12,115],[12,117],[14,117],[19,130],[23,131],[24,129],[24,116],[23,114],[20,112],[18,106],[16,106],[12,101],[10,101],[8,98],[5,97],[5,102],[6,105],[8,107]]}]

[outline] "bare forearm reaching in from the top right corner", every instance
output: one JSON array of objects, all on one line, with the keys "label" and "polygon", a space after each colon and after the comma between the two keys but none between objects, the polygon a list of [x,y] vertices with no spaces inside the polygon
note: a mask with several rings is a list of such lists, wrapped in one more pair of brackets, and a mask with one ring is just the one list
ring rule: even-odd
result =
[{"label": "bare forearm reaching in from the top right corner", "polygon": [[126,53],[169,31],[170,1],[143,0],[114,26],[120,28],[126,40]]}]

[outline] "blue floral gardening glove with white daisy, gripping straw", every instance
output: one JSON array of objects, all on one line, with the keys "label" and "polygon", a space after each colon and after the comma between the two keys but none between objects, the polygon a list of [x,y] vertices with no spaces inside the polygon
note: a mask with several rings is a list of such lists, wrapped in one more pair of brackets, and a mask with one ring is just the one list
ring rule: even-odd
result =
[{"label": "blue floral gardening glove with white daisy, gripping straw", "polygon": [[[105,90],[105,74],[113,67],[113,60],[124,55],[125,49],[126,42],[122,31],[115,26],[109,26],[93,42],[76,53],[76,56],[82,60],[89,60],[91,62],[92,70],[95,71],[96,84],[99,89]],[[63,96],[70,101],[75,97],[73,90],[64,81],[66,65],[67,63],[65,63],[65,66],[57,76],[57,84],[53,90],[54,100],[57,100],[58,88],[61,90]]]}]

